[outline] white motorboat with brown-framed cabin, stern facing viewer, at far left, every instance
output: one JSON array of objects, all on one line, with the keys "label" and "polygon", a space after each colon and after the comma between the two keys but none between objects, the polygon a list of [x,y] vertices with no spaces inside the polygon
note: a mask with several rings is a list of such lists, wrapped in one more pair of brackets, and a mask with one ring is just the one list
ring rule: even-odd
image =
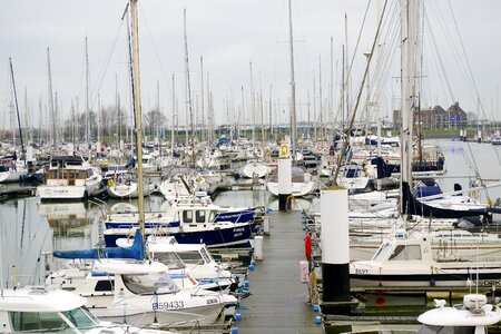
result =
[{"label": "white motorboat with brown-framed cabin, stern facing viewer, at far left", "polygon": [[104,193],[98,168],[81,156],[53,156],[45,185],[37,187],[41,200],[81,200]]}]

